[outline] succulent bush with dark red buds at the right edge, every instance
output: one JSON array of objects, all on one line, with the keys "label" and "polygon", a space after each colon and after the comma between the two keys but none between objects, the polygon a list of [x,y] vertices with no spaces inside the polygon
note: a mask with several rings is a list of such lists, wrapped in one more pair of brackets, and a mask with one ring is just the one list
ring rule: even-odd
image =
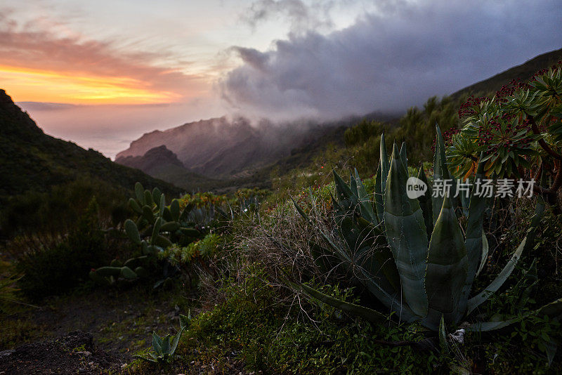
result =
[{"label": "succulent bush with dark red buds at the right edge", "polygon": [[534,178],[554,197],[562,187],[562,61],[528,83],[511,81],[492,98],[469,98],[459,110],[463,127],[448,138],[453,173],[468,178],[485,162],[491,178]]}]

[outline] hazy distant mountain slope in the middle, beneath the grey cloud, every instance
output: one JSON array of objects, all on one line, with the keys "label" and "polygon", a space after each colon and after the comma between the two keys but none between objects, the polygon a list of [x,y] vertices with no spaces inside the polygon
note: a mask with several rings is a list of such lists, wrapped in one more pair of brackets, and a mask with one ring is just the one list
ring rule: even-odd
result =
[{"label": "hazy distant mountain slope in the middle, beneath the grey cloud", "polygon": [[251,124],[244,118],[221,117],[146,133],[119,152],[116,161],[123,163],[125,157],[143,156],[148,150],[165,145],[190,171],[228,179],[287,157],[295,147],[316,138],[319,131],[323,132],[319,124],[276,126],[268,121]]}]

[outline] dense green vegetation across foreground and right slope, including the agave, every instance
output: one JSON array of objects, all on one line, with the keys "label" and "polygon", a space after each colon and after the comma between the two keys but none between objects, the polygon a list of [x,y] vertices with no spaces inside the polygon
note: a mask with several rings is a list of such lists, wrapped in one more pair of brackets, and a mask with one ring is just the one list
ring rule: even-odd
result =
[{"label": "dense green vegetation across foreground and right slope, including the agave", "polygon": [[[273,192],[174,197],[138,183],[122,198],[77,198],[76,223],[52,230],[56,200],[30,195],[10,211],[21,224],[5,246],[15,267],[1,263],[0,306],[172,294],[171,331],[146,327],[130,345],[154,360],[129,362],[134,374],[560,372],[561,70],[467,98],[460,113],[459,102],[430,98],[395,126],[362,121],[346,147],[279,176]],[[412,177],[426,185],[417,197]],[[517,178],[540,188],[476,190]],[[466,179],[470,194],[455,196]],[[443,180],[450,197],[432,194]],[[34,204],[42,230],[25,224]],[[10,310],[3,347],[30,331]]]}]

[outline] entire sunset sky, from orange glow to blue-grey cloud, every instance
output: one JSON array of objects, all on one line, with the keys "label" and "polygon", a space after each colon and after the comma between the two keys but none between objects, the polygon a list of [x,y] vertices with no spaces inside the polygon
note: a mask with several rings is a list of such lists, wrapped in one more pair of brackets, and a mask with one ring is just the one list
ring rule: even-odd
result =
[{"label": "entire sunset sky, from orange glow to blue-grey cloud", "polygon": [[400,112],[561,48],[560,20],[554,0],[3,1],[0,88],[113,157],[224,114]]}]

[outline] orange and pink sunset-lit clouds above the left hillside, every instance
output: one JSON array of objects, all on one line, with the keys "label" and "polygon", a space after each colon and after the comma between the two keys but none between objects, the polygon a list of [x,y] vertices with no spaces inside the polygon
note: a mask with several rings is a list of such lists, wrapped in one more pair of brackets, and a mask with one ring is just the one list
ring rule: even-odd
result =
[{"label": "orange and pink sunset-lit clouds above the left hillside", "polygon": [[0,12],[0,82],[17,101],[174,103],[209,95],[209,77],[159,66],[169,55],[122,51],[111,41],[21,31]]}]

